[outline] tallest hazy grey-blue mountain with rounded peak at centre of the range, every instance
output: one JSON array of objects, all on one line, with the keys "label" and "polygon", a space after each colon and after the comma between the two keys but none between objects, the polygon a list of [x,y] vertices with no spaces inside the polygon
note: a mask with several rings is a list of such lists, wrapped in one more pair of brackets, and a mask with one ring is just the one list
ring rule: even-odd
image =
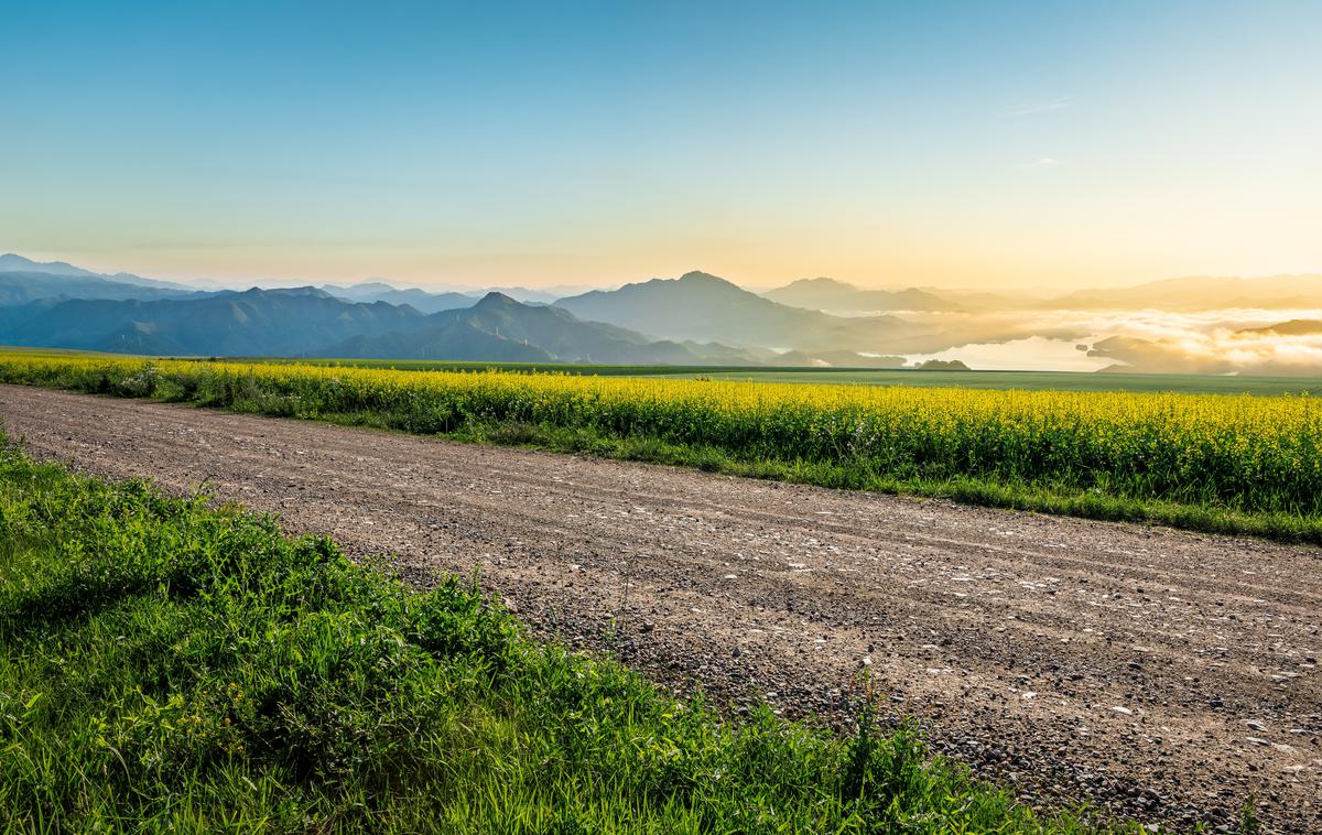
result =
[{"label": "tallest hazy grey-blue mountain with rounded peak at centre of the range", "polygon": [[561,299],[555,307],[656,337],[740,346],[882,353],[908,330],[890,316],[846,318],[792,308],[705,272],[592,291]]}]

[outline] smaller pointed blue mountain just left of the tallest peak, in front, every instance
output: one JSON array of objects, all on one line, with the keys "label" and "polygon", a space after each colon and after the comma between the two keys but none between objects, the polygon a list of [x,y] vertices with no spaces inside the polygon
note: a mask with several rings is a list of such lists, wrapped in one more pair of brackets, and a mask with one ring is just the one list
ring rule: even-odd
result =
[{"label": "smaller pointed blue mountain just left of the tallest peak, in front", "polygon": [[527,305],[492,292],[471,308],[428,316],[410,330],[352,337],[316,351],[321,357],[472,359],[492,362],[599,362],[707,365],[752,361],[727,346],[652,342],[602,322],[580,321],[553,307]]}]

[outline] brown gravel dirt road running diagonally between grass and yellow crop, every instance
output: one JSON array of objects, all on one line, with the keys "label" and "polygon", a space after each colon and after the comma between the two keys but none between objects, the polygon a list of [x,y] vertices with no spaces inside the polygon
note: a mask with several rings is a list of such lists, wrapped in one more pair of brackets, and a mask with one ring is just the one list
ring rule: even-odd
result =
[{"label": "brown gravel dirt road running diagonally between grass and yellow crop", "polygon": [[[895,716],[1026,802],[1322,831],[1322,551],[0,386],[28,451],[279,513],[740,709]],[[628,585],[627,585],[628,583]]]}]

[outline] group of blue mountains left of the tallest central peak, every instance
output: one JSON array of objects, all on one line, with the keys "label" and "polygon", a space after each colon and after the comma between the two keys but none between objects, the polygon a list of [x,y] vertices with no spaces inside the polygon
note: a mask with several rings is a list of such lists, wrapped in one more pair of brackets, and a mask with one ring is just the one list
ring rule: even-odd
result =
[{"label": "group of blue mountains left of the tallest central peak", "polygon": [[202,292],[147,279],[128,284],[19,256],[3,263],[9,270],[0,270],[0,342],[9,345],[148,355],[665,365],[756,365],[772,355],[652,340],[498,292],[475,299],[383,283],[332,287],[334,292]]}]

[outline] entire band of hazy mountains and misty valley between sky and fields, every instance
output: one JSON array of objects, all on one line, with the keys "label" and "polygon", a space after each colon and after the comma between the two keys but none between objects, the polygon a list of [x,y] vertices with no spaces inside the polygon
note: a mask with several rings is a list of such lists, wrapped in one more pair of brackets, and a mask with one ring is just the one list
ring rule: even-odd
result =
[{"label": "entire band of hazy mountains and misty valley between sky and fields", "polygon": [[0,342],[147,355],[1322,374],[1322,276],[1175,279],[1056,299],[706,272],[555,296],[385,280],[214,289],[0,256]]}]

